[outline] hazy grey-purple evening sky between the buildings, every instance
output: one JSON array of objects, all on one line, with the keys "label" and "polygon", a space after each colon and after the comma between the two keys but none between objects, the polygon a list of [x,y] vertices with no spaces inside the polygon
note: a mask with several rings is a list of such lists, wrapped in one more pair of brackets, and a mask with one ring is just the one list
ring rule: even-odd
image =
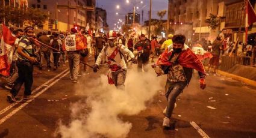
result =
[{"label": "hazy grey-purple evening sky between the buildings", "polygon": [[[149,0],[142,0],[143,4],[140,4],[140,0],[130,0],[130,4],[126,3],[126,0],[96,0],[96,6],[107,10],[107,23],[110,29],[114,28],[114,23],[117,23],[119,19],[125,22],[125,14],[133,12],[134,1],[136,1],[136,7],[139,7],[137,13],[140,14],[140,23],[142,23],[142,10],[144,11],[143,21],[148,20],[149,14]],[[119,10],[116,5],[120,5]],[[159,19],[157,11],[167,10],[168,0],[152,0],[152,19]],[[119,13],[117,16],[116,13]],[[167,13],[164,19],[167,19]]]}]

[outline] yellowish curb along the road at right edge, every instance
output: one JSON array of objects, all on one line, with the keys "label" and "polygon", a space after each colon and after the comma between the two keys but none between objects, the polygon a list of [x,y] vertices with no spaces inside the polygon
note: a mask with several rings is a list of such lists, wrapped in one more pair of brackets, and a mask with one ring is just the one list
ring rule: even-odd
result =
[{"label": "yellowish curb along the road at right edge", "polygon": [[220,71],[220,70],[217,70],[217,73],[221,74],[222,76],[232,77],[234,80],[239,80],[240,82],[244,82],[248,85],[256,87],[256,81],[254,81],[254,80],[250,80],[245,77],[237,76],[235,74],[227,73],[225,71]]}]

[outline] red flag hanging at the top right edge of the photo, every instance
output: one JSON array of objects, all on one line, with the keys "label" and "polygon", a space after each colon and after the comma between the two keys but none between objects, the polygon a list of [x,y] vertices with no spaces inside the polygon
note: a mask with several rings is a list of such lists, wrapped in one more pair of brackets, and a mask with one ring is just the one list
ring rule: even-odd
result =
[{"label": "red flag hanging at the top right edge of the photo", "polygon": [[256,13],[249,0],[245,1],[245,38],[247,41],[248,26],[256,22]]}]

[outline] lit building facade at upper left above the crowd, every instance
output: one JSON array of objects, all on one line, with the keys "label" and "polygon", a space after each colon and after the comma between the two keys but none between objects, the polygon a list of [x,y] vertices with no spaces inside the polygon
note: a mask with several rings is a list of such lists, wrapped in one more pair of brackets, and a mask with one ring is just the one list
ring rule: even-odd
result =
[{"label": "lit building facade at upper left above the crowd", "polygon": [[[87,17],[86,10],[67,9],[67,7],[60,7],[60,5],[86,7],[88,3],[86,0],[28,0],[28,7],[39,8],[49,14],[49,19],[46,20],[42,29],[66,32],[73,26],[86,28],[87,22],[95,23],[95,21],[93,22],[95,19],[93,16]],[[93,2],[91,3],[89,6],[93,6]]]}]

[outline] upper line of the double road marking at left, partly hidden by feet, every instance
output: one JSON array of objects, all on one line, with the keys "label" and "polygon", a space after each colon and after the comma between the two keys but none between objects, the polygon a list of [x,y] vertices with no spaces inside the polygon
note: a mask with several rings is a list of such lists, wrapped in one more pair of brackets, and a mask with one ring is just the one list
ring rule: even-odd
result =
[{"label": "upper line of the double road marking at left, partly hidden by feet", "polygon": [[[63,74],[64,72],[66,72],[67,70],[69,70],[68,68],[64,71],[62,71],[60,74],[58,74],[57,76],[53,77],[52,79],[48,80],[47,82],[43,83],[42,85],[38,86],[36,89],[34,89],[32,91],[32,94],[34,94],[34,92],[38,91],[39,89],[43,88],[44,86],[48,86],[48,83],[52,82],[52,80],[55,80],[57,77],[61,76],[61,74]],[[18,103],[20,103],[20,101],[16,102],[16,103],[12,103],[9,106],[5,107],[5,109],[2,109],[0,111],[0,115],[2,115],[3,113],[7,112],[8,110],[10,110],[13,106],[16,106]]]}]

